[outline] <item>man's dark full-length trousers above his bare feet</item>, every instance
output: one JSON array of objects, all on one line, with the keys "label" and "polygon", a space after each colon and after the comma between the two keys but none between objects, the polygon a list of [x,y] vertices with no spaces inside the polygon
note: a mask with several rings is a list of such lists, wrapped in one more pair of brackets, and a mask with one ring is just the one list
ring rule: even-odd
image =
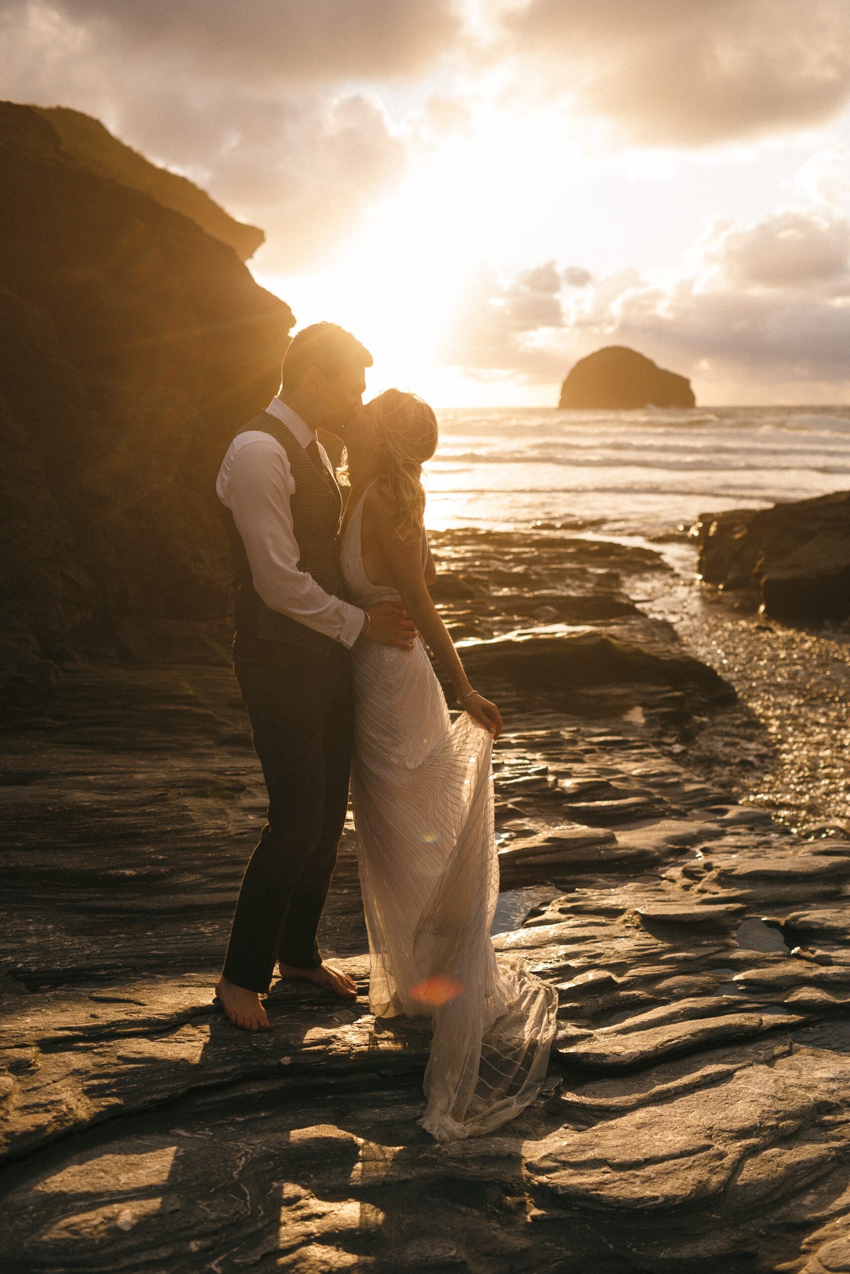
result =
[{"label": "man's dark full-length trousers above his bare feet", "polygon": [[344,647],[240,641],[233,665],[269,792],[242,879],[224,977],[266,991],[275,959],[316,968],[316,930],[348,809],[354,705]]}]

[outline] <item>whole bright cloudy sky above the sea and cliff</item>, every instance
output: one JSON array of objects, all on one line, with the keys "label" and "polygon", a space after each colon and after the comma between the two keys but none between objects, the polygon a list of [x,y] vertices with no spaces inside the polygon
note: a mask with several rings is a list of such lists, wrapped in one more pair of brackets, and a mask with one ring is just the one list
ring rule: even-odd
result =
[{"label": "whole bright cloudy sky above the sea and cliff", "polygon": [[0,94],[261,225],[372,389],[549,404],[628,344],[702,404],[850,394],[850,0],[0,0]]}]

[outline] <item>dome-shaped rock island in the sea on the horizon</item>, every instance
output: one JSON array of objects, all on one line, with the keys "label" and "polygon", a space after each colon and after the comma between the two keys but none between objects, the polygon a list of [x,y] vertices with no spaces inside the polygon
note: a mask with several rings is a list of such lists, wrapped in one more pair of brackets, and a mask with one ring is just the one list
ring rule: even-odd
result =
[{"label": "dome-shaped rock island in the sea on the horizon", "polygon": [[627,412],[644,406],[696,406],[691,382],[626,345],[580,358],[561,387],[561,408]]}]

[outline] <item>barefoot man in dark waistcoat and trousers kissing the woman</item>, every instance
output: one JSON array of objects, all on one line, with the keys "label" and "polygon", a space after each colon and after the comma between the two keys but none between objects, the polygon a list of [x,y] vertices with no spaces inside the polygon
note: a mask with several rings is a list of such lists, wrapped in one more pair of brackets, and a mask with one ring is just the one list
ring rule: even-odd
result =
[{"label": "barefoot man in dark waistcoat and trousers kissing the woman", "polygon": [[410,648],[415,629],[399,605],[363,612],[342,600],[342,497],[316,429],[344,437],[371,366],[335,324],[299,331],[278,395],[238,431],[215,484],[240,586],[233,665],[269,792],[215,989],[246,1031],[269,1029],[260,995],[275,959],[282,977],[356,995],[316,943],[348,808],[348,652],[357,641]]}]

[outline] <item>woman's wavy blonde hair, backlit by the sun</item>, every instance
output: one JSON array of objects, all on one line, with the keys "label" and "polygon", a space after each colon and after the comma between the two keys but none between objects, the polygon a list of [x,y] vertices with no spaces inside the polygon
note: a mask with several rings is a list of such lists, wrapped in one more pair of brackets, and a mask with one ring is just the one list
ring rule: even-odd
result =
[{"label": "woman's wavy blonde hair, backlit by the sun", "polygon": [[375,441],[386,455],[380,483],[395,501],[399,539],[413,540],[422,533],[422,466],[437,450],[437,418],[423,399],[401,390],[385,390],[370,406],[375,412]]}]

